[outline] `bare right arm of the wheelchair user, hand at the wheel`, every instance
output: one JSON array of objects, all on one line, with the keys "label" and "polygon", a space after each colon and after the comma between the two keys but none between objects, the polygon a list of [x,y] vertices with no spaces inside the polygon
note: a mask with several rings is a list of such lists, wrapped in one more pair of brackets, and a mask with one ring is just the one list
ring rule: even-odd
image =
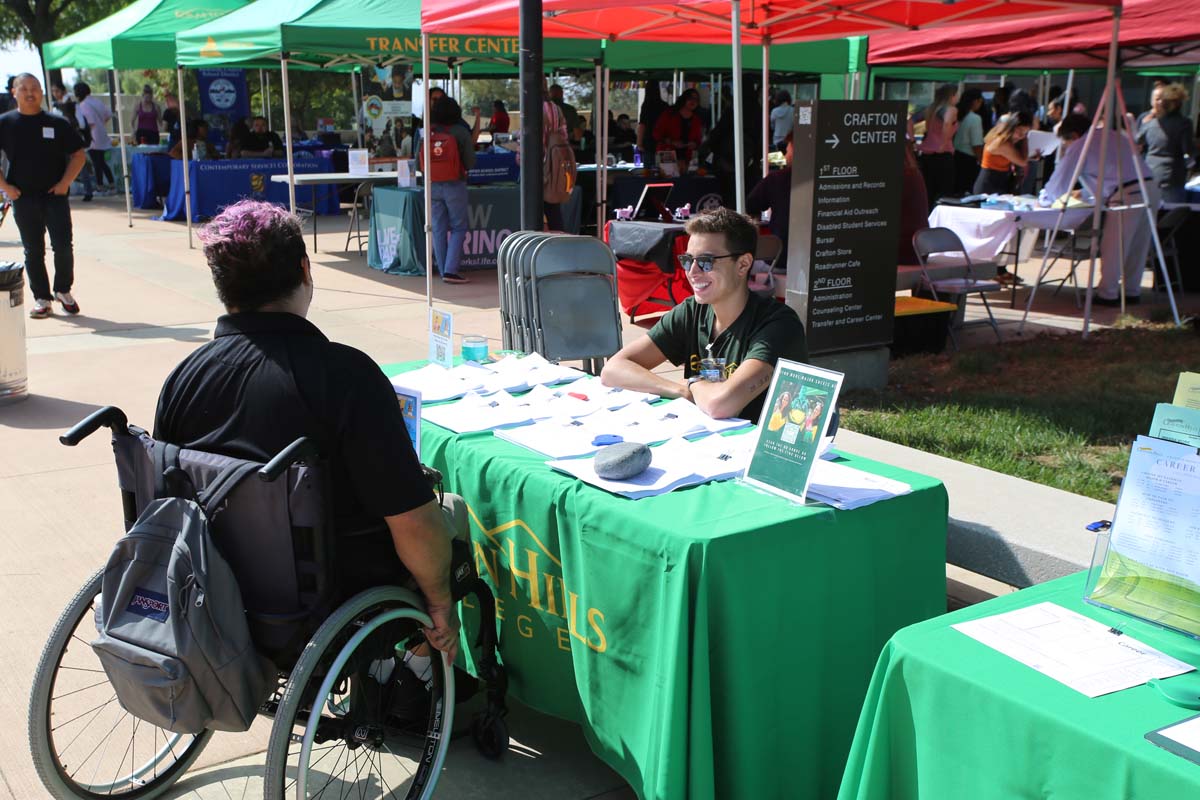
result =
[{"label": "bare right arm of the wheelchair user, hand at the wheel", "polygon": [[426,638],[450,656],[458,654],[458,618],[450,594],[450,533],[437,500],[412,511],[384,517],[396,555],[404,563],[425,595],[433,627]]}]

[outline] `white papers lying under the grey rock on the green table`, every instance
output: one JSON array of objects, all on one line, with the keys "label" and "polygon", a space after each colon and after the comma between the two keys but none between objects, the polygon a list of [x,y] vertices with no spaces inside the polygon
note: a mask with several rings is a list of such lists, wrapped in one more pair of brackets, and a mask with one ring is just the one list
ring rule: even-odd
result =
[{"label": "white papers lying under the grey rock on the green table", "polygon": [[595,473],[595,459],[569,458],[546,462],[551,468],[574,475],[613,494],[640,500],[666,494],[685,486],[736,477],[750,458],[754,437],[709,437],[701,441],[672,439],[652,449],[650,465],[628,481],[612,481]]}]

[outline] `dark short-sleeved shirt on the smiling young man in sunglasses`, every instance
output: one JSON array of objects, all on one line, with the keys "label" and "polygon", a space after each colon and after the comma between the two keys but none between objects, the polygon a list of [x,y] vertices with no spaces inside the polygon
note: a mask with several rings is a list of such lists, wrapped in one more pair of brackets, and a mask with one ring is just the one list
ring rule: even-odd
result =
[{"label": "dark short-sleeved shirt on the smiling young man in sunglasses", "polygon": [[[746,359],[766,361],[774,367],[779,359],[806,361],[809,357],[804,324],[790,306],[775,300],[751,294],[737,320],[713,338],[715,321],[712,306],[688,297],[650,329],[650,341],[667,361],[683,365],[684,378],[700,374],[700,360],[708,357],[709,343],[713,357],[725,359],[726,378]],[[764,396],[766,390],[738,416],[757,422]]]}]

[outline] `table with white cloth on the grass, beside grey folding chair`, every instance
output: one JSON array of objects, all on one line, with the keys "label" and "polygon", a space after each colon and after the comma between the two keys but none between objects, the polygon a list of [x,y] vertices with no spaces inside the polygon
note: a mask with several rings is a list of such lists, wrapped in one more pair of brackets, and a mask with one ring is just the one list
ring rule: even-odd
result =
[{"label": "table with white cloth on the grass, beside grey folding chair", "polygon": [[[1058,222],[1060,215],[1062,222]],[[1013,275],[1020,263],[1021,230],[1042,229],[1074,230],[1092,215],[1092,209],[1080,206],[1067,209],[1033,209],[1016,211],[1006,209],[977,209],[964,205],[936,205],[929,213],[930,228],[949,228],[962,240],[967,257],[972,261],[1007,261],[1013,257]],[[1016,305],[1016,282],[1009,306]]]}]

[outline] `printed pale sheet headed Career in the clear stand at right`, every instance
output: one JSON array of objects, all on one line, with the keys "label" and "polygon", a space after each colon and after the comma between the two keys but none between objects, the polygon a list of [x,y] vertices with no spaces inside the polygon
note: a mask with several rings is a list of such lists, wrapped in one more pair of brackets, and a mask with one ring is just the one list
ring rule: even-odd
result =
[{"label": "printed pale sheet headed Career in the clear stand at right", "polygon": [[1121,483],[1109,548],[1200,584],[1200,456],[1195,447],[1138,437]]}]

